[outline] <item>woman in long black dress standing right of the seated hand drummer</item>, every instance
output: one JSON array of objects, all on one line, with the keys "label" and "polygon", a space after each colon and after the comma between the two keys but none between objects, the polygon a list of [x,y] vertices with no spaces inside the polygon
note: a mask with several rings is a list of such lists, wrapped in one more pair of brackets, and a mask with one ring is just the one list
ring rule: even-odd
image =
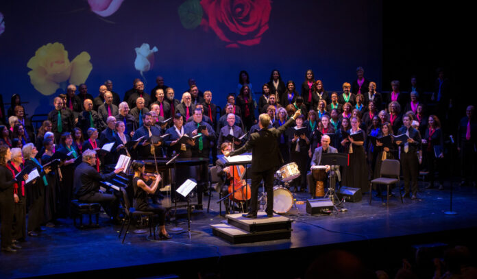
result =
[{"label": "woman in long black dress standing right of the seated hand drummer", "polygon": [[[351,129],[347,132],[350,135],[361,133],[363,138],[366,139],[366,133],[359,128],[359,120],[356,117],[352,117]],[[363,193],[369,187],[364,143],[365,141],[354,141],[351,136],[347,136],[341,141],[341,145],[348,146],[349,156],[349,164],[345,167],[343,184],[347,187],[361,189]]]}]

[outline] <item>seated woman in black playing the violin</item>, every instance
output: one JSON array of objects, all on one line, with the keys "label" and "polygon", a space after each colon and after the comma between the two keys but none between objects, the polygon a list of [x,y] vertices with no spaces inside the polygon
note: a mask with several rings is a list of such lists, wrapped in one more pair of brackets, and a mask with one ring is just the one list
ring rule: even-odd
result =
[{"label": "seated woman in black playing the violin", "polygon": [[[152,212],[159,217],[160,226],[160,239],[171,239],[167,233],[165,226],[166,210],[157,206],[156,204],[149,204],[147,202],[147,194],[154,194],[158,189],[159,182],[161,180],[160,175],[145,175],[144,162],[134,161],[132,162],[132,171],[134,171],[134,178],[132,179],[132,186],[134,189],[134,208],[141,211]],[[146,182],[152,180],[151,186],[147,186]]]}]

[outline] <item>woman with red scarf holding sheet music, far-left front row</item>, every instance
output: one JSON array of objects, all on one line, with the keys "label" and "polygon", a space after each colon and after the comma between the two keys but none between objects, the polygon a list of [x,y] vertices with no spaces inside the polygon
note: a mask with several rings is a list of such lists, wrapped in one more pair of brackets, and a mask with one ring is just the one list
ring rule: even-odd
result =
[{"label": "woman with red scarf holding sheet music, far-left front row", "polygon": [[[6,167],[15,176],[23,170],[23,155],[20,148],[10,149],[12,152],[12,159]],[[18,241],[25,241],[27,238],[27,201],[25,192],[25,181],[16,182],[13,188],[13,223],[12,223],[12,238],[13,243]],[[3,218],[2,218],[3,221]],[[3,234],[2,234],[3,236]]]}]

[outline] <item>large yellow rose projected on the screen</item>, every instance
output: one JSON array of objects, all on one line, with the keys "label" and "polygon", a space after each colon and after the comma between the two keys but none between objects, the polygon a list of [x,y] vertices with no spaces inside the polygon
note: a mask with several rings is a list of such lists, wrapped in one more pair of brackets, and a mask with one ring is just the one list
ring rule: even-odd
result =
[{"label": "large yellow rose projected on the screen", "polygon": [[49,43],[40,47],[27,63],[32,69],[28,72],[30,82],[42,95],[55,93],[67,80],[70,84],[82,84],[93,69],[90,59],[90,55],[83,51],[70,62],[63,44]]}]

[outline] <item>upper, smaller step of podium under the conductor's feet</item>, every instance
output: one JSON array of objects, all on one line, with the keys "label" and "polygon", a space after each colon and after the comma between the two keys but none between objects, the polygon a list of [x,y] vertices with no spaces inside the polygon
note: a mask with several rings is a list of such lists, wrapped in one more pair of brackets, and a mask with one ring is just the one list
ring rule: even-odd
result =
[{"label": "upper, smaller step of podium under the conductor's feet", "polygon": [[225,215],[227,222],[246,232],[267,232],[271,230],[291,230],[291,219],[273,214],[268,218],[267,213],[260,211],[256,219],[245,218],[241,213]]}]

